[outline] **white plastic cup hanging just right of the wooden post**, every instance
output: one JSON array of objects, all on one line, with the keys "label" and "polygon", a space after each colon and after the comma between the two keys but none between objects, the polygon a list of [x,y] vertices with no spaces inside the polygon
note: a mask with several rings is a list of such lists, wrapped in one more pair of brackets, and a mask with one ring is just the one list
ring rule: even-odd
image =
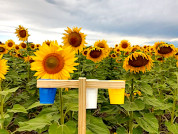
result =
[{"label": "white plastic cup hanging just right of the wooden post", "polygon": [[[97,79],[89,79],[97,80]],[[86,89],[86,109],[97,109],[97,97],[98,97],[98,88],[87,88]]]}]

